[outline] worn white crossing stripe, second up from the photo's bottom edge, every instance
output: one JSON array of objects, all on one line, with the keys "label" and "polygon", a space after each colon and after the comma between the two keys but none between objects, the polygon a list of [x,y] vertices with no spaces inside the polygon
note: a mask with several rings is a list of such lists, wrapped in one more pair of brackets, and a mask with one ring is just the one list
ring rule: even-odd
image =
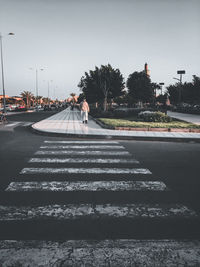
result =
[{"label": "worn white crossing stripe, second up from the photo's bottom edge", "polygon": [[0,221],[19,220],[75,220],[84,217],[106,218],[178,218],[194,217],[196,213],[186,206],[175,204],[94,205],[67,204],[46,206],[0,206]]}]

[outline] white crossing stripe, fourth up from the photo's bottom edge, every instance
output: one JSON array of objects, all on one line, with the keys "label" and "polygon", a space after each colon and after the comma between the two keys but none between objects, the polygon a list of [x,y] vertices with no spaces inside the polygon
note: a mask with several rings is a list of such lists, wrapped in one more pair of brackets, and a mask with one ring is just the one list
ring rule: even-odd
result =
[{"label": "white crossing stripe, fourth up from the photo's bottom edge", "polygon": [[151,174],[150,170],[144,168],[24,168],[20,172],[20,174],[38,173]]}]

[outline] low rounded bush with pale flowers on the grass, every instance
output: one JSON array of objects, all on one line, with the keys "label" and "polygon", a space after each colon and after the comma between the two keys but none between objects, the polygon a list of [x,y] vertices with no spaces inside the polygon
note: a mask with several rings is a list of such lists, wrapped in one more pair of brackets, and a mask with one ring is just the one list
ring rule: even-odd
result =
[{"label": "low rounded bush with pale flowers on the grass", "polygon": [[138,114],[138,118],[146,122],[171,122],[172,118],[162,112],[142,111]]}]

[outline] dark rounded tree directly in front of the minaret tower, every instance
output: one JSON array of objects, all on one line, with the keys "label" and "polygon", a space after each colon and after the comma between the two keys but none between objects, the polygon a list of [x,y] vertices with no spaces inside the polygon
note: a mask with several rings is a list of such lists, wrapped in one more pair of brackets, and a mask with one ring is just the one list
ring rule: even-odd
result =
[{"label": "dark rounded tree directly in front of the minaret tower", "polygon": [[127,88],[134,102],[148,103],[154,101],[155,90],[159,88],[159,85],[152,83],[144,71],[135,71],[127,79]]}]

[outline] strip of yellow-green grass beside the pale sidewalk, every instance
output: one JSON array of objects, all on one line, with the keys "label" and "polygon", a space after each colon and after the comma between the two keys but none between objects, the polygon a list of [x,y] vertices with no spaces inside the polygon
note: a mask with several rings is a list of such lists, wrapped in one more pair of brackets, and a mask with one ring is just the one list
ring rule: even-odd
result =
[{"label": "strip of yellow-green grass beside the pale sidewalk", "polygon": [[143,121],[134,121],[133,118],[127,118],[127,119],[99,118],[99,121],[101,121],[105,126],[111,128],[133,127],[133,128],[200,129],[200,125],[178,120],[173,120],[172,122],[143,122]]}]

